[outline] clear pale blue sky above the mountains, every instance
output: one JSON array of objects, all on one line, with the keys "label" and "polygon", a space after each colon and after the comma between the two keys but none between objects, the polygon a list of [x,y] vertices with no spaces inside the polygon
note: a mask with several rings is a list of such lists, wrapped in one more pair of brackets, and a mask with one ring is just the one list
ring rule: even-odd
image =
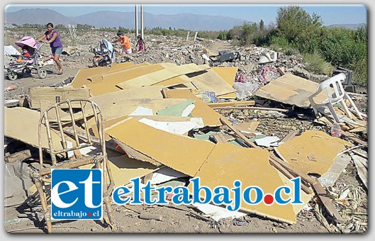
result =
[{"label": "clear pale blue sky above the mountains", "polygon": [[[368,12],[366,6],[359,4],[298,4],[308,13],[317,13],[322,17],[324,25],[345,23],[367,23]],[[263,19],[265,24],[276,23],[277,11],[284,5],[260,4],[144,4],[143,11],[154,14],[197,13],[213,16],[230,16],[245,21],[259,22]],[[6,12],[21,9],[46,8],[61,13],[64,16],[79,16],[95,11],[135,11],[135,4],[9,4]]]}]

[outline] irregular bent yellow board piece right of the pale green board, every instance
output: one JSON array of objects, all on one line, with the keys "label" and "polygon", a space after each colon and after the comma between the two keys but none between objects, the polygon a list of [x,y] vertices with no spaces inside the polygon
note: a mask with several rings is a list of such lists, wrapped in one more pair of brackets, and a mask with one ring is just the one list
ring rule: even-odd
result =
[{"label": "irregular bent yellow board piece right of the pale green board", "polygon": [[164,90],[166,98],[184,98],[184,99],[195,99],[194,102],[195,108],[191,111],[191,114],[194,117],[203,118],[203,122],[206,126],[220,126],[220,113],[214,111],[210,106],[207,106],[206,103],[201,101],[198,97],[194,96],[189,89],[174,89]]}]

